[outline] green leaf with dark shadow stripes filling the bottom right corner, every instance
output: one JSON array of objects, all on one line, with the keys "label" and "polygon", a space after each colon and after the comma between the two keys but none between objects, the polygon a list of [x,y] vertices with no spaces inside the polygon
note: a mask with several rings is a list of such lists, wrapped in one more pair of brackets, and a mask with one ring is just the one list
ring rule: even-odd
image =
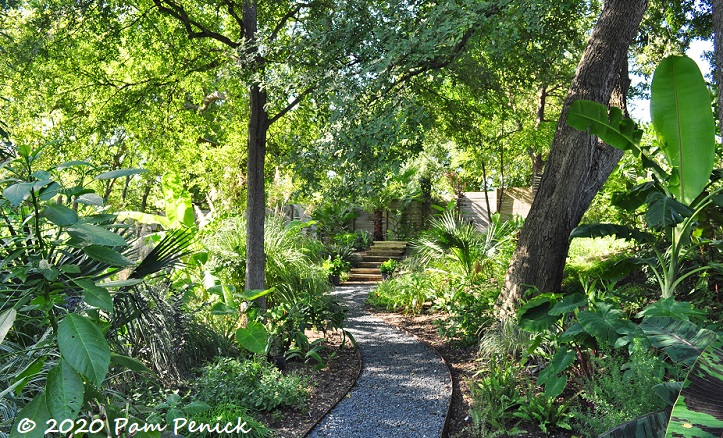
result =
[{"label": "green leaf with dark shadow stripes filling the bottom right corner", "polygon": [[723,436],[723,344],[708,346],[683,382],[666,437]]}]

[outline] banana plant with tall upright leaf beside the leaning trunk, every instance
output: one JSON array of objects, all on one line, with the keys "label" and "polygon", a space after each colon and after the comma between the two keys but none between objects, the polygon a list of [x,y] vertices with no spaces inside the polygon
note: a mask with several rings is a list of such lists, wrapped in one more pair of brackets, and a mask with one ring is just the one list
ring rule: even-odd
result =
[{"label": "banana plant with tall upright leaf beside the leaning trunk", "polygon": [[[646,222],[650,228],[664,229],[670,239],[671,245],[665,251],[651,245],[656,257],[648,263],[664,299],[672,297],[685,278],[710,268],[699,267],[682,275],[680,272],[681,260],[695,247],[691,232],[697,215],[713,203],[723,205],[719,196],[722,189],[710,190],[716,148],[710,103],[708,87],[695,61],[670,56],[660,63],[651,87],[651,118],[659,151],[667,162],[665,168],[656,160],[658,149],[640,144],[642,132],[622,117],[620,109],[608,110],[600,103],[581,100],[574,102],[567,114],[568,125],[597,135],[613,147],[632,151],[650,170],[653,181],[631,190],[624,201],[630,208],[647,204]],[[610,224],[578,227],[571,237],[603,235],[652,243],[649,235]]]}]

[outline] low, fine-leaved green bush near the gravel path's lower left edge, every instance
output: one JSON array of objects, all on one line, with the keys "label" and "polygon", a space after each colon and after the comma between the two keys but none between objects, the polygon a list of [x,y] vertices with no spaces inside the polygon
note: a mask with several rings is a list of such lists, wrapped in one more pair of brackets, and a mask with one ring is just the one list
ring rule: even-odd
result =
[{"label": "low, fine-leaved green bush near the gravel path's lower left edge", "polygon": [[306,380],[285,376],[264,359],[218,357],[201,369],[192,389],[196,400],[211,406],[230,403],[271,411],[278,406],[302,408],[309,397],[307,387]]}]

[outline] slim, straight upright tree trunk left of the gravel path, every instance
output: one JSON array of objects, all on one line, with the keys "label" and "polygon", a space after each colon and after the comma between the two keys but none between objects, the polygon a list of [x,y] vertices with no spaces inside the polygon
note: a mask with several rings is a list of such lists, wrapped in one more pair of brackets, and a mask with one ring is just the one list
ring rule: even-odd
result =
[{"label": "slim, straight upright tree trunk left of the gravel path", "polygon": [[[246,41],[256,52],[256,3],[244,1],[243,21]],[[257,56],[256,53],[254,55]],[[255,62],[260,63],[257,57]],[[261,66],[259,66],[261,67]],[[264,187],[264,160],[266,157],[266,132],[269,117],[266,112],[266,92],[258,82],[249,87],[248,124],[248,193],[246,205],[246,289],[266,289],[266,255],[264,253],[264,221],[266,219],[266,195]],[[266,308],[266,299],[258,300]]]}]

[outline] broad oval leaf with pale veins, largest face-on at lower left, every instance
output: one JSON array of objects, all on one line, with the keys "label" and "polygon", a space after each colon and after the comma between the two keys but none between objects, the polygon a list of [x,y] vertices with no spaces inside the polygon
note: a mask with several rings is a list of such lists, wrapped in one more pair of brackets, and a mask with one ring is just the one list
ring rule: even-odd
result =
[{"label": "broad oval leaf with pale veins, largest face-on at lower left", "polygon": [[73,369],[96,385],[108,373],[110,348],[100,329],[88,318],[69,314],[58,324],[58,348]]}]

